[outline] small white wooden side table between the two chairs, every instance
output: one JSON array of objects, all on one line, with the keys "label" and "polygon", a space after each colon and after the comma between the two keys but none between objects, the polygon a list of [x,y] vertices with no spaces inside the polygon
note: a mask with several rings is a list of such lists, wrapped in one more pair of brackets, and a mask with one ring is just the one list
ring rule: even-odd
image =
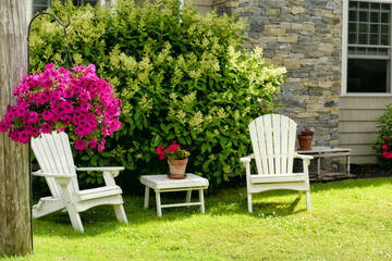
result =
[{"label": "small white wooden side table between the two chairs", "polygon": [[[197,176],[195,174],[186,173],[187,177],[184,179],[170,179],[166,174],[163,175],[143,175],[140,183],[146,186],[144,208],[148,208],[149,189],[152,188],[156,192],[157,214],[162,216],[162,208],[200,206],[200,212],[205,213],[204,189],[208,188],[208,179]],[[192,190],[198,190],[199,202],[191,202]],[[185,203],[162,204],[160,194],[172,191],[186,191]]]}]

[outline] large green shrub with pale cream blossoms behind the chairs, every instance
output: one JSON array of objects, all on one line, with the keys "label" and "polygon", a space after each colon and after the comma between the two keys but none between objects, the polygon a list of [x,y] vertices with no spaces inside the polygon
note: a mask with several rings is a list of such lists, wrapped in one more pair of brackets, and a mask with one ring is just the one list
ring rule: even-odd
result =
[{"label": "large green shrub with pale cream blossoms behind the chairs", "polygon": [[[68,42],[74,64],[94,63],[123,100],[122,129],[107,152],[78,157],[93,165],[122,164],[135,175],[167,173],[155,152],[172,140],[191,151],[187,172],[212,187],[242,172],[250,152],[248,123],[270,113],[285,69],[265,63],[261,49],[241,48],[245,21],[197,14],[176,0],[118,1],[76,9],[54,2],[62,21],[71,15]],[[64,64],[62,27],[40,17],[32,35],[32,65]],[[76,153],[76,152],[75,152]]]}]

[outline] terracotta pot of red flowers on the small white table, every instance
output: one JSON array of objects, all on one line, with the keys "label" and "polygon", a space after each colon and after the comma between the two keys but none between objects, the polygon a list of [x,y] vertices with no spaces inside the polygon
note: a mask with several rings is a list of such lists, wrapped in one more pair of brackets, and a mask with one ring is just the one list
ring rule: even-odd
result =
[{"label": "terracotta pot of red flowers on the small white table", "polygon": [[168,160],[170,174],[169,178],[182,179],[186,178],[185,169],[188,162],[191,152],[181,148],[175,140],[166,149],[163,146],[158,146],[156,152],[159,154],[159,159]]}]

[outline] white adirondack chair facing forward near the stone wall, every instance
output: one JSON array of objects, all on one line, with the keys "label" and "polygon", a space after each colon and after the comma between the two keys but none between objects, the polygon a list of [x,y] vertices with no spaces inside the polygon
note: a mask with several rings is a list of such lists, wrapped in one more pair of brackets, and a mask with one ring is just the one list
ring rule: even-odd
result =
[{"label": "white adirondack chair facing forward near the stone wall", "polygon": [[[306,208],[310,210],[308,164],[311,156],[295,153],[296,123],[283,115],[259,116],[249,124],[254,153],[240,161],[246,169],[248,211],[253,212],[252,194],[274,189],[306,191]],[[303,172],[293,173],[294,158],[303,160]],[[250,161],[256,161],[257,174],[250,174]]]}]

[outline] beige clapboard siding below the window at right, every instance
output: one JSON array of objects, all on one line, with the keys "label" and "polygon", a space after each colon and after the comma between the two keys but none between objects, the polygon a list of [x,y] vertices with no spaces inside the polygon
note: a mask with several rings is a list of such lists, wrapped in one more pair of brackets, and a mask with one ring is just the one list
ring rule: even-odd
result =
[{"label": "beige clapboard siding below the window at right", "polygon": [[377,117],[392,103],[392,97],[341,97],[339,145],[351,148],[351,162],[376,163],[371,145],[377,137]]}]

